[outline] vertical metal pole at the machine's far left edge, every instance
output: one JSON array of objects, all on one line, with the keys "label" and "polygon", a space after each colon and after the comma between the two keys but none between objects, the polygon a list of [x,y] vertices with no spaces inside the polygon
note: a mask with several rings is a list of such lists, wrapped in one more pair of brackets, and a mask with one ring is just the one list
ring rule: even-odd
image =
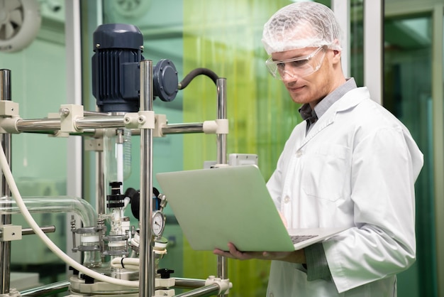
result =
[{"label": "vertical metal pole at the machine's far left edge", "polygon": [[[11,70],[0,70],[0,99],[11,100]],[[4,148],[6,160],[11,166],[11,134],[0,135],[1,145]],[[1,197],[11,197],[9,185],[6,183],[6,178],[1,172]],[[11,225],[11,215],[0,215],[0,225]],[[11,242],[0,242],[0,293],[9,293],[10,279],[11,279]]]}]

